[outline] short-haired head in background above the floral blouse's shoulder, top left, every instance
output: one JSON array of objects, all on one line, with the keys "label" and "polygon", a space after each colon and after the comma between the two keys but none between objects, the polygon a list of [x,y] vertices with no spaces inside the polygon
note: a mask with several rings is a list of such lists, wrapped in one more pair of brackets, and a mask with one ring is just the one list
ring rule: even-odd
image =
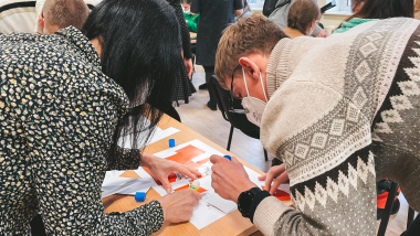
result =
[{"label": "short-haired head in background above the floral blouse's shoulder, top left", "polygon": [[83,0],[46,0],[38,19],[41,34],[53,34],[70,25],[81,30],[91,10]]}]

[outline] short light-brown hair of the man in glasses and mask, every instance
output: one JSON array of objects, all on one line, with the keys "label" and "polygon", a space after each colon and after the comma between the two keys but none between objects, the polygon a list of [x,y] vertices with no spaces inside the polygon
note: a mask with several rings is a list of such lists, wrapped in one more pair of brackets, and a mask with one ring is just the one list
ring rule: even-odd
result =
[{"label": "short light-brown hair of the man in glasses and mask", "polygon": [[214,74],[219,84],[228,89],[225,77],[231,76],[239,58],[259,53],[270,55],[281,39],[287,35],[262,14],[240,19],[224,30],[216,54]]}]

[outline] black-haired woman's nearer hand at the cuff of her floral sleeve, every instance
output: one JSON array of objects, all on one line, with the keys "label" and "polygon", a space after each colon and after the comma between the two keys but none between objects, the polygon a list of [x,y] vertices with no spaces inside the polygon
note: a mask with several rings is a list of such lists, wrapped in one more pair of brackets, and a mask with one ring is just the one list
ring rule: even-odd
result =
[{"label": "black-haired woman's nearer hand at the cuff of her floral sleeve", "polygon": [[164,221],[169,223],[187,222],[191,218],[193,207],[198,206],[200,193],[192,190],[180,190],[158,200],[164,210]]}]

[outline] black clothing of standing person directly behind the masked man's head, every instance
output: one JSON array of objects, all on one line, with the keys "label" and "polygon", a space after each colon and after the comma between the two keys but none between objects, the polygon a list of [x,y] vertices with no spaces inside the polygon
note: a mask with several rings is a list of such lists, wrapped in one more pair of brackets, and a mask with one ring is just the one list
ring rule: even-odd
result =
[{"label": "black clothing of standing person directly behind the masked man's head", "polygon": [[234,23],[233,11],[243,9],[242,0],[192,0],[191,12],[200,13],[197,25],[197,64],[214,66],[223,30]]}]

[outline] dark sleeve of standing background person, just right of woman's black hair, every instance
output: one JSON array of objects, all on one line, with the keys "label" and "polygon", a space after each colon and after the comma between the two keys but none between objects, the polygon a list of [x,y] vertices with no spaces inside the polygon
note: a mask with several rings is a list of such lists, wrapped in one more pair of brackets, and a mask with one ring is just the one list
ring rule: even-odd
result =
[{"label": "dark sleeve of standing background person, just right of woman's black hair", "polygon": [[183,19],[182,7],[178,0],[167,0],[167,2],[170,6],[172,6],[175,13],[176,13],[178,21],[179,21],[179,29],[181,31],[181,39],[182,39],[183,57],[185,58],[191,58],[192,54],[191,54],[190,31],[188,30],[187,22]]}]

